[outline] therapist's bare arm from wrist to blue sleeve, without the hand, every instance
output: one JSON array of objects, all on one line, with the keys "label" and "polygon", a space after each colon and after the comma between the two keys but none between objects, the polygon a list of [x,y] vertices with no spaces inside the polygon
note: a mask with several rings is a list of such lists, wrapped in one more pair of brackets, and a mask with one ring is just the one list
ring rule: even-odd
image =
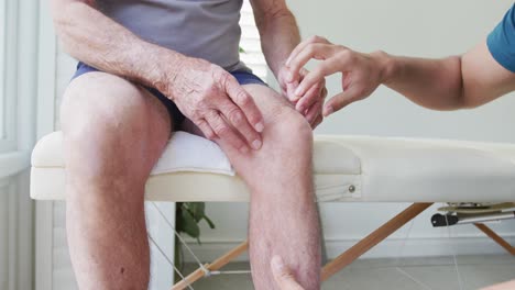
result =
[{"label": "therapist's bare arm from wrist to blue sleeve, without the hand", "polygon": [[475,108],[515,89],[515,74],[492,57],[486,41],[442,59],[381,55],[384,85],[430,109]]}]

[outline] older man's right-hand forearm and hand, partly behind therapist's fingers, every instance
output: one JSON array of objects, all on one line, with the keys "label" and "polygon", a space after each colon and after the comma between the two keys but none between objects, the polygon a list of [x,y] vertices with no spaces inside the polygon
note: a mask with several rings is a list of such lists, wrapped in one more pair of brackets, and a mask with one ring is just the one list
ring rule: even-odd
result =
[{"label": "older man's right-hand forearm and hand, partly behind therapist's fingers", "polygon": [[[261,46],[266,63],[274,72],[283,94],[292,97],[293,90],[296,89],[298,83],[289,85],[288,87],[288,83],[285,81],[285,74],[288,74],[288,71],[284,65],[292,51],[300,42],[295,16],[287,8],[285,0],[251,0],[251,4],[254,10],[255,23],[260,31]],[[304,76],[307,72],[307,70],[303,70],[302,75]],[[308,103],[304,107],[300,107],[303,104],[300,103],[296,108],[313,126],[316,126],[321,121],[321,105],[327,94],[325,88],[324,79],[315,81],[306,94],[313,96],[310,98],[320,101]],[[288,96],[288,92],[291,92],[291,96]],[[297,100],[288,99],[297,104]]]}]

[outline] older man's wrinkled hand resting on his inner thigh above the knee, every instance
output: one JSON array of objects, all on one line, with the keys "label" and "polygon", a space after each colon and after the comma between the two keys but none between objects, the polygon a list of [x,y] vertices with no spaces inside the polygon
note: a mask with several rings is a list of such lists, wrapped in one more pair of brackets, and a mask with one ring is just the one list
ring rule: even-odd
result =
[{"label": "older man's wrinkled hand resting on his inner thigh above the knee", "polygon": [[249,93],[221,67],[186,57],[164,92],[209,140],[223,138],[242,153],[261,148],[263,118]]}]

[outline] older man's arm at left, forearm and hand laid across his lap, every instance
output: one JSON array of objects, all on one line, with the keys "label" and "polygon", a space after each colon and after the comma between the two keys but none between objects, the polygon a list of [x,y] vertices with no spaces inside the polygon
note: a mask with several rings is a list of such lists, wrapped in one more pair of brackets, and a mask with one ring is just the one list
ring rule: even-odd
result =
[{"label": "older man's arm at left, forearm and hand laid across his lap", "polygon": [[261,140],[258,107],[221,67],[141,40],[91,0],[52,0],[52,12],[57,34],[75,58],[158,89],[209,138],[226,138],[243,152]]}]

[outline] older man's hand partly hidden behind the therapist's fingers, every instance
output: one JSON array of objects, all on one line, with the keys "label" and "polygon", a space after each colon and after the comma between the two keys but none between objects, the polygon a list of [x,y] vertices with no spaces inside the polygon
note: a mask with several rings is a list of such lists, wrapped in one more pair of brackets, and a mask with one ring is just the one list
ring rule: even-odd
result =
[{"label": "older man's hand partly hidden behind the therapist's fingers", "polygon": [[298,71],[298,79],[292,79],[289,69],[283,66],[277,79],[283,96],[295,105],[295,109],[300,112],[311,127],[315,129],[324,121],[322,105],[327,96],[326,79],[321,78],[319,81],[315,82],[306,91],[304,97],[297,97],[294,92],[308,72],[307,69],[300,68]]}]

